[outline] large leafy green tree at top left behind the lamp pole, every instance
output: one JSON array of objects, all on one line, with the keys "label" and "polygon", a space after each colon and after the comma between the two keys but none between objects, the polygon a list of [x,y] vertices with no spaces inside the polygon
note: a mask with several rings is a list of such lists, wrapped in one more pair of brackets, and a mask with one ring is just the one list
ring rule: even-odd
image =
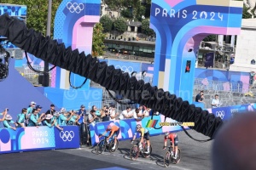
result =
[{"label": "large leafy green tree at top left behind the lamp pole", "polygon": [[[54,19],[57,8],[62,0],[52,1],[51,37],[54,29]],[[27,6],[26,26],[46,35],[48,1],[46,0],[1,0],[1,3],[11,3]]]}]

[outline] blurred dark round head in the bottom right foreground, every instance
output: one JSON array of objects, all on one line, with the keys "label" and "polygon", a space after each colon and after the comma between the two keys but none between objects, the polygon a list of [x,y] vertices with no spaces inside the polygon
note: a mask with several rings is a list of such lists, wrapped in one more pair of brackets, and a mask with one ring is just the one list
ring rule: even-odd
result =
[{"label": "blurred dark round head in the bottom right foreground", "polygon": [[245,113],[224,123],[214,136],[212,170],[256,169],[256,114]]}]

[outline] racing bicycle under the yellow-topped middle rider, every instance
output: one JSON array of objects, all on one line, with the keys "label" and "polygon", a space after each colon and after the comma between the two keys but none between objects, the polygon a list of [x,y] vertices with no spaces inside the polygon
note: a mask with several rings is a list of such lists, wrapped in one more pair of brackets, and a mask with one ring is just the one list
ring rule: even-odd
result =
[{"label": "racing bicycle under the yellow-topped middle rider", "polygon": [[146,139],[143,140],[143,144],[142,144],[142,148],[139,148],[139,143],[140,143],[141,140],[137,140],[137,144],[133,145],[131,147],[131,150],[130,150],[130,158],[131,160],[137,160],[137,157],[139,156],[139,154],[142,154],[143,157],[148,157],[151,152],[152,152],[152,146],[150,144],[150,147],[149,147],[149,153],[145,153],[145,151],[147,150],[148,148],[148,144],[147,144],[147,141]]}]

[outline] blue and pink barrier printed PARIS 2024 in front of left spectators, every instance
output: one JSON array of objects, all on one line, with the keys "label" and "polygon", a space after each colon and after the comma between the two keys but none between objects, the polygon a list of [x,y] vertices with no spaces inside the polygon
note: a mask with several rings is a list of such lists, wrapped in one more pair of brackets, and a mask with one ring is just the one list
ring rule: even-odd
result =
[{"label": "blue and pink barrier printed PARIS 2024 in front of left spectators", "polygon": [[79,148],[79,127],[19,127],[0,129],[0,154],[30,150]]}]

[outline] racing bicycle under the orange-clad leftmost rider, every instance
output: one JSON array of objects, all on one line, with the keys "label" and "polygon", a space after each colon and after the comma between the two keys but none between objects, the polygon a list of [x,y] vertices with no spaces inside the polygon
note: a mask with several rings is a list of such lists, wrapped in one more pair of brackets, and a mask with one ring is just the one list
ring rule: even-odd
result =
[{"label": "racing bicycle under the orange-clad leftmost rider", "polygon": [[113,148],[113,144],[114,144],[114,138],[113,136],[107,141],[108,136],[104,136],[104,139],[102,139],[98,144],[97,144],[97,148],[96,148],[96,153],[97,154],[101,154],[102,151],[105,151],[106,149],[108,149],[110,152],[114,152],[115,150],[118,149],[119,147],[119,139],[117,139],[116,141],[116,145],[115,145],[115,149],[112,150]]}]

